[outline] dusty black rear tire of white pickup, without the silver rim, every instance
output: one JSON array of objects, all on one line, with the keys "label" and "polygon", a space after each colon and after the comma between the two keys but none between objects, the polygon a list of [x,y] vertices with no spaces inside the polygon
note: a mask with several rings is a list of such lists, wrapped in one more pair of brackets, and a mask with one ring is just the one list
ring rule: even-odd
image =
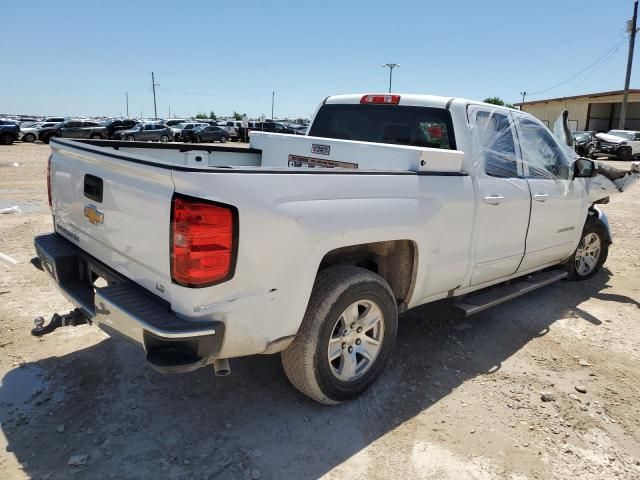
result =
[{"label": "dusty black rear tire of white pickup, without the silver rim", "polygon": [[[380,347],[359,376],[343,381],[333,373],[328,357],[329,341],[332,336],[335,338],[336,322],[343,312],[361,300],[377,306],[382,313]],[[300,330],[282,352],[284,371],[296,389],[319,403],[335,405],[350,400],[367,390],[382,373],[393,350],[397,329],[395,297],[382,277],[353,266],[322,270],[313,286]],[[353,358],[356,356],[354,353]]]}]

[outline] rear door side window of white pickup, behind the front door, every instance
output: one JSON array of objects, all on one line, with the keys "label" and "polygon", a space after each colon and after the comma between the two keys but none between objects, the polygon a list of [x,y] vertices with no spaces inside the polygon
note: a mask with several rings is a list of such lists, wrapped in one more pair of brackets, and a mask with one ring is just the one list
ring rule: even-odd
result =
[{"label": "rear door side window of white pickup, behind the front door", "polygon": [[506,113],[478,111],[473,133],[487,175],[499,178],[518,176],[514,132]]}]

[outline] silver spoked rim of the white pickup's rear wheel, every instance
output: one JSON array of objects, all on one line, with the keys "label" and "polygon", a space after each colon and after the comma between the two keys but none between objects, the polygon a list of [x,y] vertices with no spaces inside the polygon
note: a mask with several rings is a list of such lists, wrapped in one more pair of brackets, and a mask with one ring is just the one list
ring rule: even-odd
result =
[{"label": "silver spoked rim of the white pickup's rear wheel", "polygon": [[327,358],[331,373],[343,382],[364,375],[382,348],[384,315],[370,300],[349,305],[331,330]]}]

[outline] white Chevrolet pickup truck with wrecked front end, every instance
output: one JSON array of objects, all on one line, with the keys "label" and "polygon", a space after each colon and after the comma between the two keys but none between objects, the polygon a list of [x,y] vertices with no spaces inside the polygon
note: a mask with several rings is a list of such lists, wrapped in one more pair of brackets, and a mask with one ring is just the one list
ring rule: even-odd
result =
[{"label": "white Chevrolet pickup truck with wrecked front end", "polygon": [[526,113],[459,98],[332,96],[307,136],[253,132],[248,149],[51,148],[55,232],[35,248],[83,315],[162,372],[282,352],[325,404],[375,381],[398,312],[584,279],[611,242],[594,162]]}]

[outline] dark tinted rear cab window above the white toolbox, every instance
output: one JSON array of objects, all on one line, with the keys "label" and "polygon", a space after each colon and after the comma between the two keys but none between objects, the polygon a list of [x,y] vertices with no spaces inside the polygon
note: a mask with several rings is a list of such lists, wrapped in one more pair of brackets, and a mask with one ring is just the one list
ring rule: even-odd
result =
[{"label": "dark tinted rear cab window above the white toolbox", "polygon": [[326,104],[312,137],[455,150],[451,114],[443,108],[408,105]]}]

